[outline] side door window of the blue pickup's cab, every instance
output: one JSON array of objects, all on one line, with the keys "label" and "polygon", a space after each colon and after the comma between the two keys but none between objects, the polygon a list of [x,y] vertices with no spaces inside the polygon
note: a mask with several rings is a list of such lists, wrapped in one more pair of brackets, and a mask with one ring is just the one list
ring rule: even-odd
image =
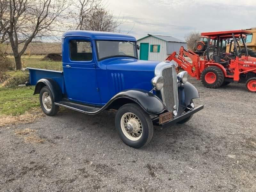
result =
[{"label": "side door window of the blue pickup's cab", "polygon": [[91,42],[85,40],[69,41],[70,60],[74,61],[91,61],[92,46]]}]

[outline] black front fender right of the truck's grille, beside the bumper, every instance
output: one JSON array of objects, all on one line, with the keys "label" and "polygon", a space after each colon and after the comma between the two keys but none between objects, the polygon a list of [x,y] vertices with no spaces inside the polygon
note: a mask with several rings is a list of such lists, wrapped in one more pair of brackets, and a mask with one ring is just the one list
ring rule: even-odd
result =
[{"label": "black front fender right of the truck's grille, beside the bumper", "polygon": [[192,99],[199,98],[199,93],[194,85],[187,82],[184,85],[178,87],[178,98],[178,115],[181,115],[190,104]]}]

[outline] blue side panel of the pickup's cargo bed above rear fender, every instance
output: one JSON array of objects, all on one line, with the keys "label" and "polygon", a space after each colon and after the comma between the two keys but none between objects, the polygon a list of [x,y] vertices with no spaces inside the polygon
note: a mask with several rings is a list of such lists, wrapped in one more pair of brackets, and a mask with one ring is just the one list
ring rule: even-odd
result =
[{"label": "blue side panel of the pickup's cargo bed above rear fender", "polygon": [[29,70],[29,83],[30,85],[36,85],[36,82],[43,78],[50,78],[56,81],[62,93],[65,93],[64,86],[64,76],[62,71],[53,71],[47,69],[37,69],[37,68],[26,68]]}]

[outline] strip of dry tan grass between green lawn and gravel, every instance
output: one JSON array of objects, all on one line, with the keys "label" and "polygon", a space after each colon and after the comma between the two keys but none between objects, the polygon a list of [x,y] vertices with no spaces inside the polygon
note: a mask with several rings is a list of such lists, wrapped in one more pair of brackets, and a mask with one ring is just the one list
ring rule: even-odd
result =
[{"label": "strip of dry tan grass between green lawn and gravel", "polygon": [[40,108],[34,108],[19,116],[3,115],[0,116],[0,127],[10,124],[32,123],[42,116],[44,114]]}]

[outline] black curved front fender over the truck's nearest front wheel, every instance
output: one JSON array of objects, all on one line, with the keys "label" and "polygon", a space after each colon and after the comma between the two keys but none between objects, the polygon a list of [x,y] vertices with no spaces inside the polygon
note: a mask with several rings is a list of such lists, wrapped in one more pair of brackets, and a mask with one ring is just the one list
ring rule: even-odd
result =
[{"label": "black curved front fender over the truck's nearest front wheel", "polygon": [[106,107],[120,107],[129,101],[137,103],[149,115],[159,115],[167,110],[164,103],[155,94],[141,89],[124,90],[117,93],[108,101]]}]

